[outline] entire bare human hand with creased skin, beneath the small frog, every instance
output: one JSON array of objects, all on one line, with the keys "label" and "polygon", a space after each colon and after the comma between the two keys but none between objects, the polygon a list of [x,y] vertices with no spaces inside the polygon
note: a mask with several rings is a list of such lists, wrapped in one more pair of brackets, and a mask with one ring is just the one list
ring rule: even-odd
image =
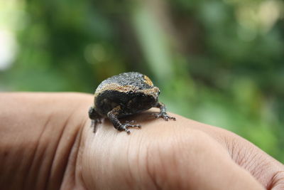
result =
[{"label": "entire bare human hand with creased skin, beneath the small frog", "polygon": [[174,115],[90,127],[92,95],[0,93],[1,189],[284,189],[283,164],[238,135]]}]

